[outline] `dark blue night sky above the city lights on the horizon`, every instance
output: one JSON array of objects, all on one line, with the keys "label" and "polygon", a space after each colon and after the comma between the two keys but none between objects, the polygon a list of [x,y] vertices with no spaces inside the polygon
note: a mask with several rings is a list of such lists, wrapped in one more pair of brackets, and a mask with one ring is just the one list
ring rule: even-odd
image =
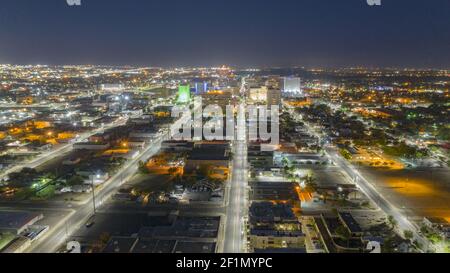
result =
[{"label": "dark blue night sky above the city lights on the horizon", "polygon": [[1,0],[0,63],[450,68],[449,0]]}]

